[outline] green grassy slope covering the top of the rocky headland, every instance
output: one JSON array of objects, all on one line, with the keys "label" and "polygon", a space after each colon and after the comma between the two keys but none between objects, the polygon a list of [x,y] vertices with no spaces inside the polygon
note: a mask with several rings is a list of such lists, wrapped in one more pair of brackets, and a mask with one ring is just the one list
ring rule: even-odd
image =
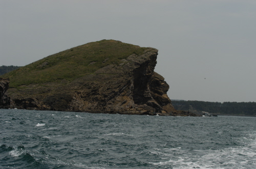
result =
[{"label": "green grassy slope covering the top of the rocky headland", "polygon": [[21,67],[0,77],[10,79],[10,88],[23,85],[74,80],[110,64],[120,64],[122,59],[135,53],[142,54],[145,47],[115,40],[91,42]]}]

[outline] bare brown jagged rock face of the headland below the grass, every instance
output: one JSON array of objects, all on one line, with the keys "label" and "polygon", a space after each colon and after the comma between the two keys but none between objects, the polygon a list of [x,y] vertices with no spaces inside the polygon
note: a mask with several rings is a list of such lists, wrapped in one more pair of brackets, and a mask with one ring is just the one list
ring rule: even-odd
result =
[{"label": "bare brown jagged rock face of the headland below the grass", "polygon": [[58,88],[54,83],[40,88],[30,85],[12,94],[13,106],[119,114],[170,113],[175,109],[166,95],[168,85],[154,72],[157,52],[150,48],[142,55],[132,54],[119,65],[105,66],[94,74],[63,82],[66,85]]}]

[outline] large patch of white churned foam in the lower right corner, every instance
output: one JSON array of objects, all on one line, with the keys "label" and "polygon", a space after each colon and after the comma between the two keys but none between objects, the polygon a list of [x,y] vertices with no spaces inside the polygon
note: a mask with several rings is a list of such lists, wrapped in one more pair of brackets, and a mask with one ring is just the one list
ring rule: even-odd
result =
[{"label": "large patch of white churned foam in the lower right corner", "polygon": [[[166,150],[149,151],[150,155],[159,155],[162,160],[150,162],[158,166],[172,168],[251,168],[256,166],[255,149],[249,147],[231,147],[221,150]],[[179,154],[179,156],[177,156]],[[167,160],[166,160],[167,159]]]}]

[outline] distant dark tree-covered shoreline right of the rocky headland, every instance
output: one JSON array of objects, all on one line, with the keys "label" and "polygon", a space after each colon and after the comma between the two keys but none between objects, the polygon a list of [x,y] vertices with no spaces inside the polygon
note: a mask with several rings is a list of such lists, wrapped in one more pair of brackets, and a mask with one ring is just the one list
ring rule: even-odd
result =
[{"label": "distant dark tree-covered shoreline right of the rocky headland", "polygon": [[194,112],[207,111],[211,114],[247,115],[256,116],[256,102],[207,102],[172,100],[173,106],[178,110]]}]

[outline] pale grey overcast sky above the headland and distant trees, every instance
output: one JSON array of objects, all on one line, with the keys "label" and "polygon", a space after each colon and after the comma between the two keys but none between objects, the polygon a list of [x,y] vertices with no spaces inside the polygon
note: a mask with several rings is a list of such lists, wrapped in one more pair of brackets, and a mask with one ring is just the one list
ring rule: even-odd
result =
[{"label": "pale grey overcast sky above the headland and distant trees", "polygon": [[0,66],[102,39],[157,48],[170,99],[256,102],[255,0],[0,0]]}]

